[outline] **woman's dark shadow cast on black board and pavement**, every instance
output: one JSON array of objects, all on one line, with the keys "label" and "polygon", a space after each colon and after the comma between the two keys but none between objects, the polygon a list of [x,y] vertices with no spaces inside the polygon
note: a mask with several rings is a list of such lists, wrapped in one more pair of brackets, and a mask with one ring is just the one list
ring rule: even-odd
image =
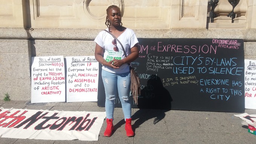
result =
[{"label": "woman's dark shadow cast on black board and pavement", "polygon": [[139,110],[132,116],[132,119],[136,120],[133,124],[134,130],[152,118],[152,123],[157,124],[165,118],[165,112],[171,110],[172,97],[169,91],[163,87],[160,77],[154,77],[156,79],[149,79],[141,91],[138,99]]}]

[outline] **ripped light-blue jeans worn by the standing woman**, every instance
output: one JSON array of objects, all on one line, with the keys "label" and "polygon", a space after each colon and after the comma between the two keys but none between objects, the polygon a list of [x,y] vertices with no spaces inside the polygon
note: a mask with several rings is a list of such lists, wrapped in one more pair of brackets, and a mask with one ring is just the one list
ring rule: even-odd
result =
[{"label": "ripped light-blue jeans worn by the standing woman", "polygon": [[130,71],[127,73],[116,74],[102,70],[101,74],[106,94],[105,111],[107,118],[114,118],[114,104],[118,102],[116,99],[117,93],[122,104],[125,119],[131,118]]}]

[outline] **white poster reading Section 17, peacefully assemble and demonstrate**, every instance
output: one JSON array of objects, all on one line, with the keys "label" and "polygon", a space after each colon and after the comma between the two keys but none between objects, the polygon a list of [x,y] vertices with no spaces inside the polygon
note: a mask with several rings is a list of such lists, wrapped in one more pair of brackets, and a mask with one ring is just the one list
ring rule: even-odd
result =
[{"label": "white poster reading Section 17, peacefully assemble and demonstrate", "polygon": [[97,102],[99,63],[94,56],[67,56],[67,102]]}]

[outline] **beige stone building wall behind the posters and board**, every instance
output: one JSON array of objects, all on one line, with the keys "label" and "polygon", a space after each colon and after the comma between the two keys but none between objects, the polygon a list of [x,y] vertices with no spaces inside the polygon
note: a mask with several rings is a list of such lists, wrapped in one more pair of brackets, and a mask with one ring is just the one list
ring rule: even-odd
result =
[{"label": "beige stone building wall behind the posters and board", "polygon": [[[238,0],[237,0],[238,1]],[[32,56],[94,55],[106,9],[118,5],[123,26],[138,38],[244,39],[246,59],[256,59],[256,0],[219,0],[210,23],[210,0],[0,0],[0,97],[31,97]]]}]

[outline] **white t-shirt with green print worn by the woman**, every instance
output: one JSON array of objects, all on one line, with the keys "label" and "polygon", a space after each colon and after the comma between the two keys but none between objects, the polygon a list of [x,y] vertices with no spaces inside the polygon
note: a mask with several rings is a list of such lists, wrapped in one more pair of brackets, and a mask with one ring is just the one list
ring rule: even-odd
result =
[{"label": "white t-shirt with green print worn by the woman", "polygon": [[[117,39],[122,43],[127,56],[131,54],[130,49],[139,42],[134,31],[128,28],[126,28],[126,30],[120,36],[118,36]],[[105,50],[104,59],[107,62],[112,61],[113,58],[115,59],[125,58],[121,45],[119,44],[118,41],[112,42],[113,40],[114,40],[113,36],[104,30],[99,32],[99,34],[94,39],[94,41]],[[116,46],[118,47],[118,51],[114,50],[114,46],[115,46],[114,44],[116,44]],[[130,68],[128,64],[123,64],[121,67],[117,69],[103,66],[102,70],[108,71],[110,73],[126,73],[130,71]]]}]

